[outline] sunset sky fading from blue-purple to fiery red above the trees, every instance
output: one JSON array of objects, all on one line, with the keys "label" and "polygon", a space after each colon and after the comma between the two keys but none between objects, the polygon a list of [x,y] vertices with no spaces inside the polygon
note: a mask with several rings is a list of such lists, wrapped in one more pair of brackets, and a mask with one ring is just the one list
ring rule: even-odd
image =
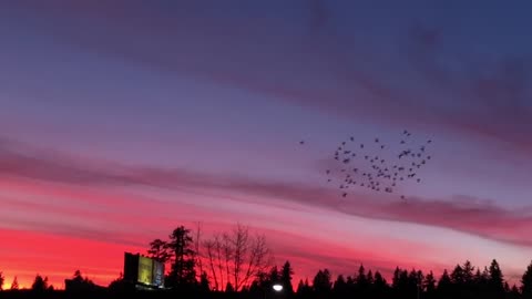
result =
[{"label": "sunset sky fading from blue-purple to fiery red above the trees", "polygon": [[[296,279],[532,259],[532,20],[501,1],[3,1],[0,271],[106,285],[178,225]],[[325,184],[349,136],[433,140],[397,195]],[[300,145],[299,141],[305,144]]]}]

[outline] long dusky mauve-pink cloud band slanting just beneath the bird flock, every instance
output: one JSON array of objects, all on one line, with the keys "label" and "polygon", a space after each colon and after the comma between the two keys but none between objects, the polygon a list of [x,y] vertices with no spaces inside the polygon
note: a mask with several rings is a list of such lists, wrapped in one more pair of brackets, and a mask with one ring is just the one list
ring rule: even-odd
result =
[{"label": "long dusky mauve-pink cloud band slanting just beneath the bird flock", "polygon": [[[510,210],[474,198],[462,197],[460,200],[411,198],[403,203],[397,198],[397,195],[354,194],[348,199],[340,200],[338,194],[331,189],[297,183],[216,176],[187,169],[162,169],[116,164],[104,167],[94,166],[103,165],[102,163],[85,163],[83,159],[72,161],[61,158],[61,156],[50,158],[45,152],[35,154],[38,152],[30,151],[31,158],[27,158],[20,153],[23,151],[17,152],[17,154],[14,152],[6,154],[6,151],[0,147],[0,164],[10,165],[9,168],[2,167],[4,171],[0,172],[0,176],[85,187],[154,186],[163,189],[258,195],[341,210],[365,218],[444,227],[493,240],[532,246],[529,234],[532,231],[532,216],[525,209]],[[31,161],[31,165],[34,167],[27,167],[30,165],[28,161]],[[116,200],[120,202],[120,198],[116,197]],[[115,202],[115,206],[134,203],[127,200],[124,198],[121,203]],[[147,204],[141,203],[141,205]],[[146,207],[146,210],[150,208]]]}]

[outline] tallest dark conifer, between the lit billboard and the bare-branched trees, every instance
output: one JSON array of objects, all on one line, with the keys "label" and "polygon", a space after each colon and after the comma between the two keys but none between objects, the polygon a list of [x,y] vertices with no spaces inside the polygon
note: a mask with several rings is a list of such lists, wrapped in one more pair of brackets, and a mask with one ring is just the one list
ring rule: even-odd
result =
[{"label": "tallest dark conifer, between the lit billboard and the bare-branched trees", "polygon": [[167,247],[173,256],[172,269],[168,275],[170,286],[174,288],[192,287],[196,282],[196,272],[191,230],[180,226],[172,231],[168,238]]}]

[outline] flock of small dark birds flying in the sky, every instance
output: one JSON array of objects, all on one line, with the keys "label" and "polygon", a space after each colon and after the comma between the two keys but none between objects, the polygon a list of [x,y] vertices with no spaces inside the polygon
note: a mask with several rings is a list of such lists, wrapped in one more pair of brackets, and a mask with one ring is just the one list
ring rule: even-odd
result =
[{"label": "flock of small dark birds flying in the sky", "polygon": [[[355,187],[396,194],[408,181],[421,183],[419,171],[432,158],[429,153],[432,141],[413,145],[411,135],[405,130],[399,144],[385,144],[379,138],[360,143],[352,136],[340,142],[332,154],[337,167],[325,169],[327,183],[336,185],[342,197]],[[299,143],[304,145],[305,141]]]}]

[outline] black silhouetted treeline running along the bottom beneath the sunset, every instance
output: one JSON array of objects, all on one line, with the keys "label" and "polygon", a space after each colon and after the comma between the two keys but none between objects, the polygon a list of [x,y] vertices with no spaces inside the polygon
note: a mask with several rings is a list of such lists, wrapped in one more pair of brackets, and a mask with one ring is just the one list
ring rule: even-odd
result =
[{"label": "black silhouetted treeline running along the bottom beneath the sunset", "polygon": [[[192,231],[184,226],[175,228],[167,238],[150,243],[147,255],[167,265],[165,290],[150,292],[150,297],[175,297],[175,292],[190,298],[361,298],[361,299],[532,299],[532,262],[521,277],[520,286],[510,286],[497,260],[488,267],[473,266],[469,260],[444,270],[438,277],[432,271],[396,268],[388,281],[378,270],[362,265],[352,275],[331,277],[320,269],[314,278],[295,283],[289,261],[275,265],[263,235],[252,234],[247,226],[237,224],[231,231],[218,233],[204,239],[201,226]],[[4,282],[0,272],[0,289]],[[132,291],[122,276],[106,288],[95,286],[80,271],[69,279],[73,290],[99,292],[98,297],[114,297]],[[283,286],[275,291],[273,286]],[[14,278],[10,296],[17,291]],[[48,286],[48,279],[37,276],[28,293],[62,296]],[[141,291],[136,291],[142,295]],[[0,293],[0,297],[8,292]],[[66,292],[68,293],[68,292]],[[22,296],[23,297],[23,296]],[[21,297],[21,298],[22,298]],[[17,297],[11,297],[17,298]],[[59,297],[58,297],[59,298]]]}]

